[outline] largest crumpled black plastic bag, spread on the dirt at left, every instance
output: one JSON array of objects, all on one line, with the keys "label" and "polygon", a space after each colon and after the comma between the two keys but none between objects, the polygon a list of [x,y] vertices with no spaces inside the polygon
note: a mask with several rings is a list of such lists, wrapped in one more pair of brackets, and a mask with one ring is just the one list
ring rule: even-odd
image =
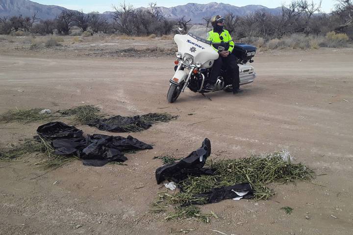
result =
[{"label": "largest crumpled black plastic bag, spread on the dirt at left", "polygon": [[57,155],[76,155],[84,165],[102,166],[108,162],[125,162],[124,151],[152,149],[152,146],[132,136],[94,134],[82,136],[82,131],[62,122],[49,122],[37,129],[38,135],[51,140]]}]

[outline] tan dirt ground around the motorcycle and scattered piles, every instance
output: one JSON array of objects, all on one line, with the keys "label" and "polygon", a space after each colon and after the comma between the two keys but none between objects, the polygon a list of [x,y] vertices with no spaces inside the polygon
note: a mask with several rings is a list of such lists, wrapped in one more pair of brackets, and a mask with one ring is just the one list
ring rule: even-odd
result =
[{"label": "tan dirt ground around the motorcycle and scattered piles", "polygon": [[[173,45],[158,42],[148,44]],[[119,48],[129,43],[134,42],[126,40]],[[116,51],[114,45],[27,47],[0,43],[0,113],[14,107],[55,111],[84,102],[114,115],[169,112],[179,118],[132,133],[154,148],[127,155],[128,165],[89,167],[75,161],[35,178],[45,170],[34,168],[39,160],[33,155],[0,163],[1,235],[159,235],[180,229],[195,229],[192,235],[219,234],[211,230],[227,235],[352,234],[352,48],[259,52],[253,63],[258,77],[243,86],[242,94],[217,92],[209,101],[186,91],[168,104],[173,56],[101,58]],[[91,56],[91,50],[101,52]],[[0,147],[31,138],[40,124],[0,123]],[[112,134],[77,127],[86,134]],[[314,184],[276,185],[277,197],[268,201],[202,206],[202,212],[220,217],[208,224],[166,222],[166,214],[149,213],[156,193],[164,190],[154,178],[162,163],[152,158],[187,156],[204,138],[211,140],[212,158],[287,149],[295,162],[319,176]],[[285,206],[293,208],[292,214],[280,210]]]}]

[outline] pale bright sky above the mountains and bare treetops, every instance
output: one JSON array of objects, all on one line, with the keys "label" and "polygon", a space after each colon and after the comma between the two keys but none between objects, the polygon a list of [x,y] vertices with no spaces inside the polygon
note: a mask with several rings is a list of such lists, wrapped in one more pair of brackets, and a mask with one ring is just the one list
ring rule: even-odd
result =
[{"label": "pale bright sky above the mountains and bare treetops", "polygon": [[[111,11],[111,5],[119,5],[123,1],[117,0],[32,0],[41,4],[46,5],[58,5],[71,10],[83,10],[83,12],[88,13],[91,11],[99,11],[100,13],[104,11]],[[155,0],[153,0],[154,2]],[[228,3],[234,6],[246,6],[246,5],[263,5],[269,8],[275,8],[281,6],[284,0],[222,0],[217,2]],[[310,1],[310,0],[309,0]],[[319,0],[314,0],[318,2]],[[126,0],[126,3],[132,4],[134,7],[148,6],[151,0]],[[156,1],[158,6],[177,6],[185,5],[188,2],[196,2],[195,0],[168,0],[165,1]],[[212,1],[197,1],[198,3],[209,3]],[[285,2],[290,2],[286,0]],[[322,10],[326,13],[330,12],[333,8],[335,0],[322,0]]]}]

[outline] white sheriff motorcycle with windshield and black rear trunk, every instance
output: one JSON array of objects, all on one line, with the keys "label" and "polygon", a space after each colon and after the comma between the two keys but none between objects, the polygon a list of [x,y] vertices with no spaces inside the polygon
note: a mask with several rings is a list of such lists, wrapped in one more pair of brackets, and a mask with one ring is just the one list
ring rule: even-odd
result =
[{"label": "white sheriff motorcycle with windshield and black rear trunk", "polygon": [[[212,65],[218,59],[218,53],[207,41],[207,32],[210,31],[205,25],[196,24],[191,27],[187,34],[179,33],[174,36],[174,41],[178,47],[175,61],[175,74],[170,79],[167,101],[173,103],[180,93],[188,87],[193,92],[198,92],[207,97],[204,93],[214,91],[232,91],[231,79],[227,76],[227,71],[222,69],[215,84],[215,90],[207,90],[205,87]],[[224,50],[224,47],[218,47]],[[240,85],[252,83],[256,77],[256,72],[252,63],[252,57],[256,53],[256,47],[251,45],[236,43],[232,51],[237,57],[240,72]],[[207,97],[208,98],[208,97]]]}]

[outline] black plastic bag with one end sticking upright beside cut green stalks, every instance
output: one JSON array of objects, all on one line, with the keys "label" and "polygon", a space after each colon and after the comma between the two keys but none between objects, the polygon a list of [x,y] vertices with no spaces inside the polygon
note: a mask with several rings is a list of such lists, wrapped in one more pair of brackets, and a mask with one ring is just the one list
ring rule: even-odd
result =
[{"label": "black plastic bag with one end sticking upright beside cut green stalks", "polygon": [[186,158],[177,163],[157,168],[155,172],[157,184],[160,184],[164,180],[172,180],[178,183],[191,175],[213,174],[212,169],[202,168],[210,154],[211,142],[206,138],[202,142],[201,148],[193,151]]}]

